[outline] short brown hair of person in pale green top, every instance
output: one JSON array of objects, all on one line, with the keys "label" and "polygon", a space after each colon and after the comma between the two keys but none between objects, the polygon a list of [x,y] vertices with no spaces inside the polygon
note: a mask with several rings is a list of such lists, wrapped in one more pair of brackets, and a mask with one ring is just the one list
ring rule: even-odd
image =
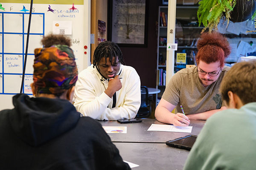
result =
[{"label": "short brown hair of person in pale green top", "polygon": [[222,99],[229,103],[228,91],[239,96],[245,105],[256,102],[256,60],[233,65],[221,81]]}]

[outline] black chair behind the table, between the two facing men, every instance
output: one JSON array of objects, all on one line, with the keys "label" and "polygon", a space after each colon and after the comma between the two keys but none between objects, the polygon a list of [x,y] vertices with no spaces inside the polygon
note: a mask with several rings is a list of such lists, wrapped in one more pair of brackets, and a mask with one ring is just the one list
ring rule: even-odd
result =
[{"label": "black chair behind the table, between the two facing men", "polygon": [[151,115],[151,101],[152,96],[148,95],[148,88],[146,86],[140,86],[141,104],[140,109],[135,118],[144,118]]}]

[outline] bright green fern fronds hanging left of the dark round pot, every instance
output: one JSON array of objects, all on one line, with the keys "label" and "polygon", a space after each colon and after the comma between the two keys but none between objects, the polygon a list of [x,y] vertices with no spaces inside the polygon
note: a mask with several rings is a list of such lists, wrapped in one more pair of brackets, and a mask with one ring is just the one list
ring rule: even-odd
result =
[{"label": "bright green fern fronds hanging left of the dark round pot", "polygon": [[201,0],[197,11],[199,26],[204,25],[202,32],[209,28],[209,32],[217,30],[220,19],[230,20],[230,13],[236,5],[236,0]]}]

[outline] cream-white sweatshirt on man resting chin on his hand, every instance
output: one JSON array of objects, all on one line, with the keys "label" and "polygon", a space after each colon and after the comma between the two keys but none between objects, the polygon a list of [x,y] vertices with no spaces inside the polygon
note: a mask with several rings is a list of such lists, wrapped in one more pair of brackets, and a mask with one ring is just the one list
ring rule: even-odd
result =
[{"label": "cream-white sweatshirt on man resting chin on his hand", "polygon": [[108,80],[105,80],[93,65],[81,71],[75,86],[76,110],[84,116],[98,120],[134,118],[141,102],[140,77],[131,66],[120,64],[119,73],[120,71],[122,88],[116,91],[115,108],[112,108],[113,99],[104,93],[108,88]]}]

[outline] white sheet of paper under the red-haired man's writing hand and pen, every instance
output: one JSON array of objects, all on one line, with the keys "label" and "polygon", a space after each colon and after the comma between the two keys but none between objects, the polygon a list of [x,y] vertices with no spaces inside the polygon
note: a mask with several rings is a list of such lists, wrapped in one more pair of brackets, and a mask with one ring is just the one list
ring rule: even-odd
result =
[{"label": "white sheet of paper under the red-haired man's writing hand and pen", "polygon": [[184,132],[184,133],[191,133],[192,126],[181,127],[181,126],[174,126],[174,125],[157,125],[152,124],[148,131],[165,131],[165,132]]}]

